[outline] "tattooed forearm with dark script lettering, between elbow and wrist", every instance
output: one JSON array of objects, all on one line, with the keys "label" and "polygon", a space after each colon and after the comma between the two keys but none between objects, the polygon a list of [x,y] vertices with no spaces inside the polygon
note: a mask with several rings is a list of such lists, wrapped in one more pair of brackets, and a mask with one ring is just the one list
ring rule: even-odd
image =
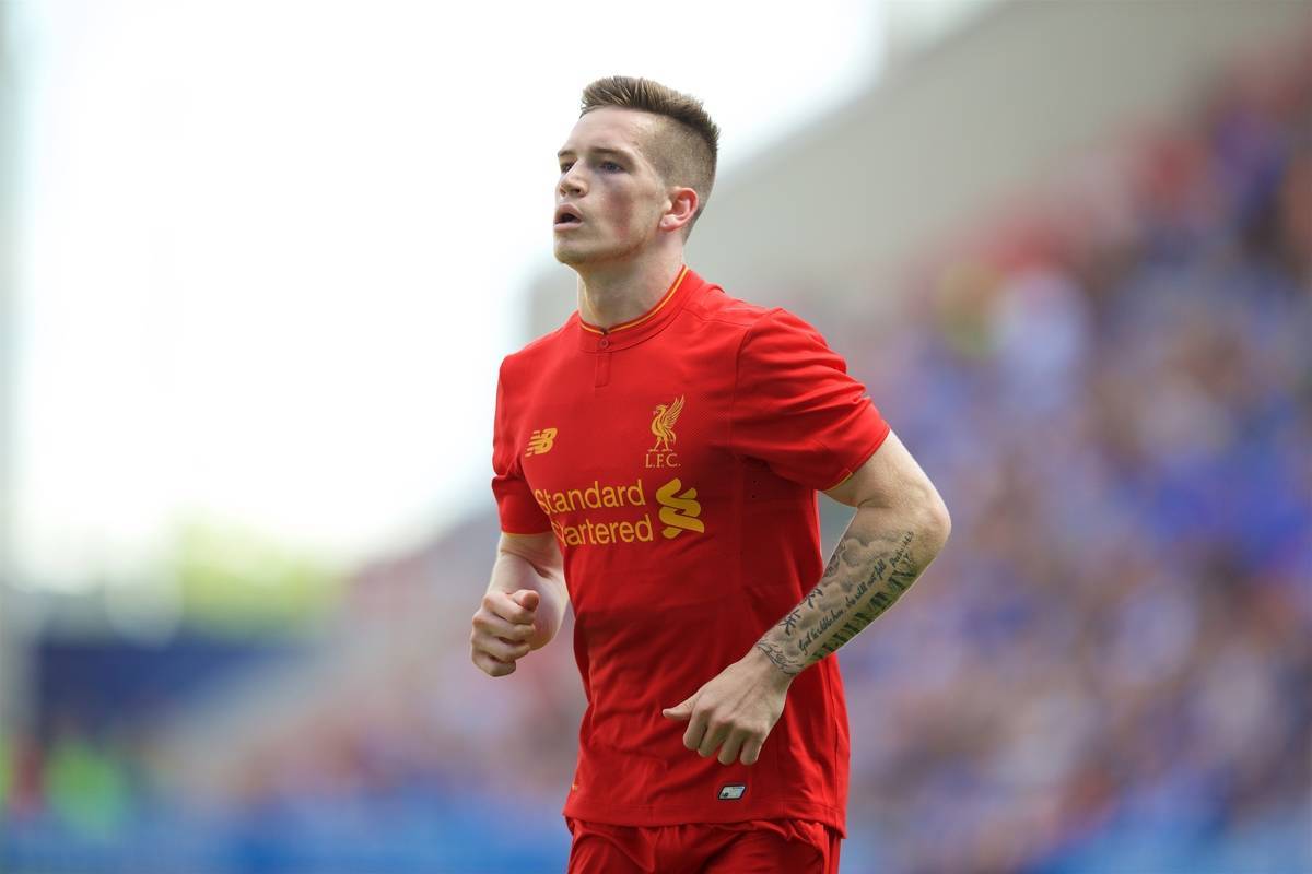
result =
[{"label": "tattooed forearm with dark script lettering, between elbow and wrist", "polygon": [[912,554],[914,532],[844,535],[820,583],[757,641],[794,676],[855,637],[911,588],[924,563]]}]

